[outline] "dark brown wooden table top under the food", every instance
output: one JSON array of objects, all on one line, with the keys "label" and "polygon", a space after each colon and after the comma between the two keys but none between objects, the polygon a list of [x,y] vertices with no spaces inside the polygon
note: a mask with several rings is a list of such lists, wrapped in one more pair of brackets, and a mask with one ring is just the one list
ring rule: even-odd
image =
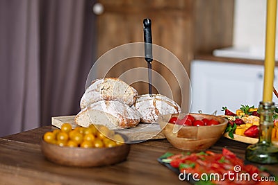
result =
[{"label": "dark brown wooden table top under the food", "polygon": [[[0,184],[187,184],[156,160],[165,152],[180,153],[166,139],[131,145],[126,161],[113,166],[74,168],[47,161],[40,150],[45,126],[0,138]],[[223,147],[244,157],[248,145],[226,138],[210,150],[221,152]],[[278,164],[265,165],[278,175]]]}]

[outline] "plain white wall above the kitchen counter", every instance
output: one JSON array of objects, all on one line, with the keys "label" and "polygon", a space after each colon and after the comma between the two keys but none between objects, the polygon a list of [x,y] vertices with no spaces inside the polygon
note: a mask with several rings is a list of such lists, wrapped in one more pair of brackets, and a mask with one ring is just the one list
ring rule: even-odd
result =
[{"label": "plain white wall above the kitchen counter", "polygon": [[[235,3],[234,46],[264,49],[267,1],[236,0]],[[278,51],[278,28],[276,37],[276,51]]]}]

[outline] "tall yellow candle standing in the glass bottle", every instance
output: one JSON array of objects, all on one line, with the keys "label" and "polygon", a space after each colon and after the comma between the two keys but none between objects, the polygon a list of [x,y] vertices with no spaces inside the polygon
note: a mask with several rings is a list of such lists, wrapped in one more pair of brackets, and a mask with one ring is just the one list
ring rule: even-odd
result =
[{"label": "tall yellow candle standing in the glass bottle", "polygon": [[275,69],[275,29],[277,0],[268,0],[265,37],[265,77],[263,82],[263,102],[272,102]]}]

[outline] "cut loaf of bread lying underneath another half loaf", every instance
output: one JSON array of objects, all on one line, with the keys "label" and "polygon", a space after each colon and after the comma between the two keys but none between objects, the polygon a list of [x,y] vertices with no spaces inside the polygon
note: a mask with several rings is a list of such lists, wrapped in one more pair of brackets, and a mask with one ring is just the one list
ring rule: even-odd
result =
[{"label": "cut loaf of bread lying underneath another half loaf", "polygon": [[105,125],[111,130],[136,127],[140,113],[117,100],[101,100],[82,109],[75,117],[75,123],[82,127],[91,124]]}]

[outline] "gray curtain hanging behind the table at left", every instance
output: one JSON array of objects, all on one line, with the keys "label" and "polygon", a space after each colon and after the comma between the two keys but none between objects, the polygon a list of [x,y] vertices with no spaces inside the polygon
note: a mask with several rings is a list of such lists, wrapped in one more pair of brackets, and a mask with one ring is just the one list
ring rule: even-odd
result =
[{"label": "gray curtain hanging behind the table at left", "polygon": [[93,3],[0,1],[0,136],[79,112],[95,61]]}]

